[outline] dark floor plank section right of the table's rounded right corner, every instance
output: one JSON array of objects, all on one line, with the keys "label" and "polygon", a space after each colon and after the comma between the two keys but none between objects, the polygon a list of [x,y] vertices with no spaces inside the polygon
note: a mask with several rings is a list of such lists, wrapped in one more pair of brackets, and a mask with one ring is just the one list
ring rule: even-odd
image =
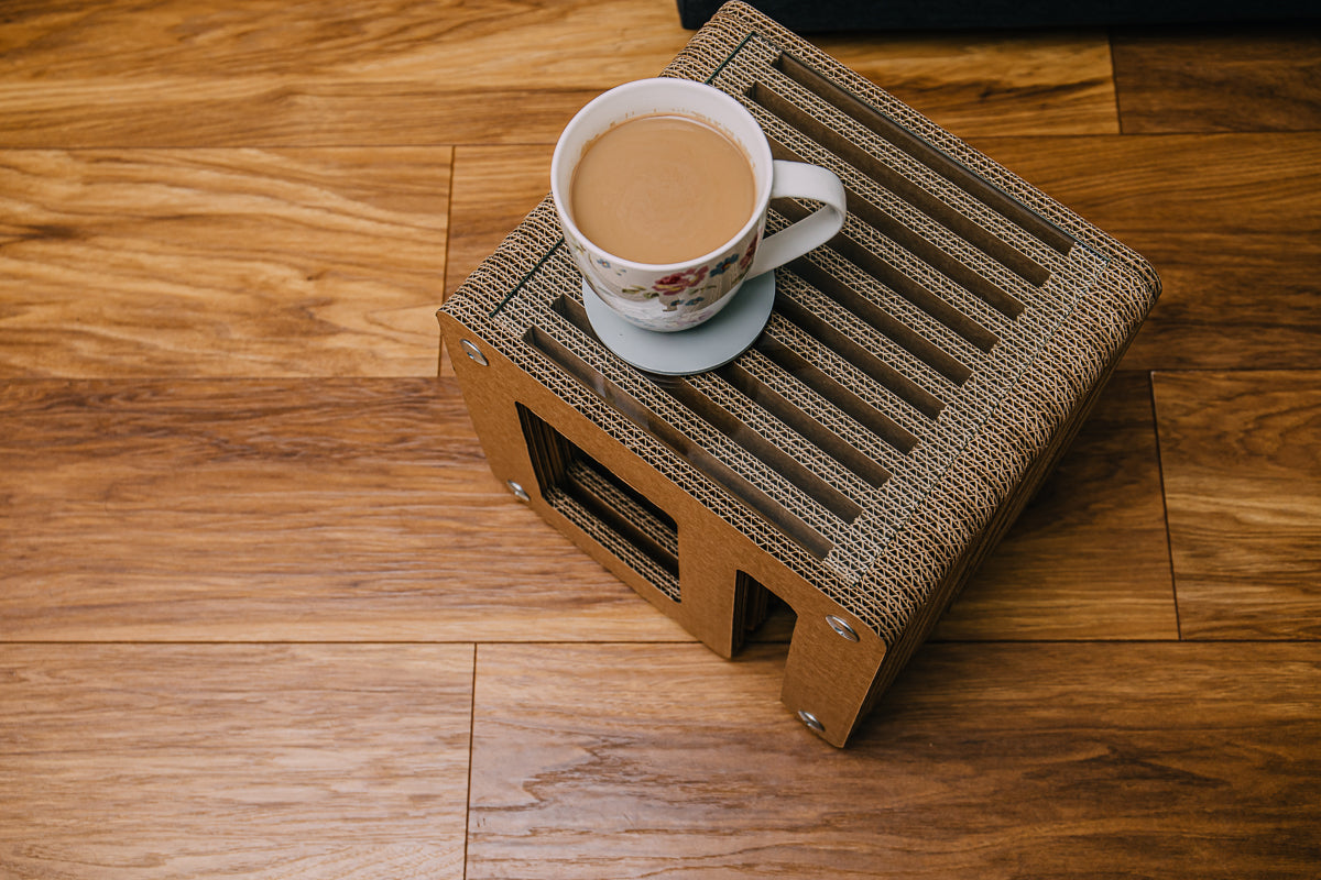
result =
[{"label": "dark floor plank section right of the table's rounded right corner", "polygon": [[1316,365],[1321,135],[975,145],[1156,267],[1164,292],[1125,369]]}]

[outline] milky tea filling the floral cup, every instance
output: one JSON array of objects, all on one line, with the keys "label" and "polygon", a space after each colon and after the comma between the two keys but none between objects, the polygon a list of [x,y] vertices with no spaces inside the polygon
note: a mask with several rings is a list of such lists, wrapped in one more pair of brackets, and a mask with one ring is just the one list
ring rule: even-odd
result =
[{"label": "milky tea filling the floral cup", "polygon": [[658,113],[588,144],[569,187],[573,222],[602,251],[670,264],[728,243],[757,207],[742,149],[716,128]]}]

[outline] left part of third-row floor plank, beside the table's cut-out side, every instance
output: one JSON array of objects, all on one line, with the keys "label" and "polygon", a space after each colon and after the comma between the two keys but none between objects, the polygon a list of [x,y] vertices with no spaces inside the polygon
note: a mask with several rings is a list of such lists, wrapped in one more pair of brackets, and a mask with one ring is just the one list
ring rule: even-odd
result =
[{"label": "left part of third-row floor plank, beside the table's cut-out side", "polygon": [[691,640],[518,504],[453,380],[0,384],[0,640]]}]

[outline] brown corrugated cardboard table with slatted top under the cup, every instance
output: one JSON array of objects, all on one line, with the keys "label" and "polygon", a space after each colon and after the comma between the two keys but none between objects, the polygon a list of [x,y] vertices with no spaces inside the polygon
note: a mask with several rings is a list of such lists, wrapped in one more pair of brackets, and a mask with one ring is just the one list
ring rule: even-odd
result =
[{"label": "brown corrugated cardboard table with slatted top under the cup", "polygon": [[[843,745],[1058,459],[1159,293],[1139,256],[732,3],[664,75],[742,102],[848,220],[753,346],[675,379],[593,332],[547,198],[440,310],[495,475],[729,657],[797,613],[781,699]],[[771,224],[810,206],[773,204]]]}]

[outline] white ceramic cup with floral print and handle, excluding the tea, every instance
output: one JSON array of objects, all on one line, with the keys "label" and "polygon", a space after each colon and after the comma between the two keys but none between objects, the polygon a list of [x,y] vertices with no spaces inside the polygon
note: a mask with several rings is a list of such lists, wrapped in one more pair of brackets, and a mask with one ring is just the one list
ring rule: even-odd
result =
[{"label": "white ceramic cup with floral print and handle, excluding the tea", "polygon": [[[748,222],[728,241],[683,263],[634,263],[608,253],[573,223],[573,170],[592,142],[630,119],[678,115],[704,121],[733,140],[748,157],[756,202]],[[771,160],[770,144],[746,108],[712,86],[687,79],[639,79],[588,103],[564,128],[551,160],[551,191],[564,241],[592,290],[627,322],[646,330],[687,330],[720,311],[745,278],[756,277],[820,247],[844,224],[844,186],[830,170]],[[762,237],[773,198],[806,198],[823,207]]]}]

